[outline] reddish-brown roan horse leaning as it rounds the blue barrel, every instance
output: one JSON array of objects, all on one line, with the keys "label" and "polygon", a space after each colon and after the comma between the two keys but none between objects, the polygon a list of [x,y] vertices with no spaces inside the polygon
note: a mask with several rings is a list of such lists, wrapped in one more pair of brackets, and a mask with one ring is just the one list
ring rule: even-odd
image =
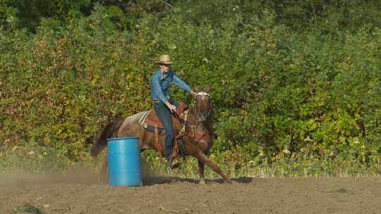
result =
[{"label": "reddish-brown roan horse leaning as it rounds the blue barrel", "polygon": [[[229,177],[219,168],[219,166],[207,158],[210,148],[213,144],[214,130],[213,130],[213,106],[211,103],[210,94],[207,92],[198,92],[195,96],[194,107],[188,108],[186,118],[180,118],[177,115],[176,120],[181,120],[182,134],[178,135],[183,148],[185,148],[186,156],[193,156],[198,160],[198,174],[200,177],[200,184],[205,184],[204,178],[204,165],[217,172],[225,182],[231,183]],[[95,141],[92,146],[91,155],[97,156],[105,147],[107,147],[107,139],[111,137],[138,137],[140,140],[140,152],[146,149],[154,149],[162,153],[161,148],[164,148],[165,135],[155,136],[155,133],[147,130],[140,125],[140,118],[142,118],[148,111],[143,111],[131,115],[128,118],[117,116],[111,120],[99,139]],[[156,139],[155,139],[156,137]],[[158,139],[157,139],[158,138]],[[155,144],[156,140],[156,144]],[[157,140],[161,142],[159,145]],[[160,148],[161,146],[161,148]],[[177,145],[176,145],[177,146]],[[162,156],[162,154],[160,155]],[[105,157],[104,164],[101,170],[103,180],[107,180],[107,156]]]}]

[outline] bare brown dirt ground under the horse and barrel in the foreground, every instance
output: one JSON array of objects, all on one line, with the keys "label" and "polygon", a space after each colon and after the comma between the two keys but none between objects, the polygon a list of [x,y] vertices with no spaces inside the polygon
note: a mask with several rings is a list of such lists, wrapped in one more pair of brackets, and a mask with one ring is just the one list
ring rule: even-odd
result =
[{"label": "bare brown dirt ground under the horse and barrel in the foreground", "polygon": [[198,180],[150,177],[109,187],[75,176],[0,176],[0,213],[29,203],[44,213],[381,213],[381,177]]}]

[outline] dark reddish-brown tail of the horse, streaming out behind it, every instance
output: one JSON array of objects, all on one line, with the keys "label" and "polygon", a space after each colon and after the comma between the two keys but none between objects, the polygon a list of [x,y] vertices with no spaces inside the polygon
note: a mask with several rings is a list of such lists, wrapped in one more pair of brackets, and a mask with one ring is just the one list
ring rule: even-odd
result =
[{"label": "dark reddish-brown tail of the horse, streaming out behind it", "polygon": [[97,139],[94,146],[92,146],[92,149],[90,151],[91,156],[97,156],[104,149],[104,147],[107,146],[107,139],[112,137],[114,132],[119,130],[119,127],[121,127],[123,122],[124,118],[118,115],[116,116],[116,118],[114,118],[114,120],[111,120],[111,122],[107,124],[107,126],[102,131],[102,134],[100,135],[99,139]]}]

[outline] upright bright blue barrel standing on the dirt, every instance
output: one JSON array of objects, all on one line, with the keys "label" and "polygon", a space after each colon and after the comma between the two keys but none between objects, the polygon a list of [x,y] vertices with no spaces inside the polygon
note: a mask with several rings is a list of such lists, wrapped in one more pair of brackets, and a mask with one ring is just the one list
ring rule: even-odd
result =
[{"label": "upright bright blue barrel standing on the dirt", "polygon": [[142,185],[139,138],[120,137],[107,141],[109,185],[114,187]]}]

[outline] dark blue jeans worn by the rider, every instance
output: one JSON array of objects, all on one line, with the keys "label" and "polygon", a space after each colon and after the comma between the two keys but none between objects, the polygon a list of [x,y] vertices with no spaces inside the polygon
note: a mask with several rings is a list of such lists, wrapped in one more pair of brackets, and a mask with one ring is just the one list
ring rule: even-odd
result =
[{"label": "dark blue jeans worn by the rider", "polygon": [[[178,102],[172,99],[169,99],[169,103],[176,106],[176,108],[180,106]],[[169,160],[169,158],[171,158],[173,142],[175,137],[174,125],[172,123],[171,118],[171,111],[169,110],[167,105],[162,101],[154,101],[153,106],[157,114],[157,118],[159,118],[160,122],[162,122],[162,125],[165,130],[166,137],[164,144],[164,156],[165,158],[167,158],[167,160]]]}]

